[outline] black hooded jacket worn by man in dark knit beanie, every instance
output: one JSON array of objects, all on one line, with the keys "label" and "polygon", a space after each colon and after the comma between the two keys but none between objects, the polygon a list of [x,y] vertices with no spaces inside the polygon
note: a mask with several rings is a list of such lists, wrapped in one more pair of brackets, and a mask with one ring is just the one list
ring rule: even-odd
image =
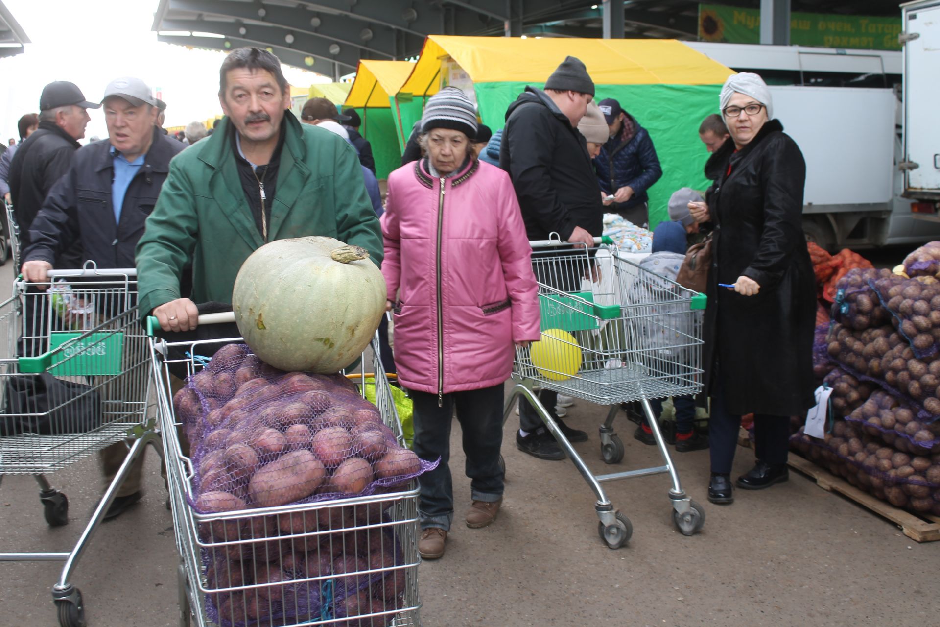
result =
[{"label": "black hooded jacket worn by man in dark knit beanie", "polygon": [[499,166],[519,198],[529,240],[603,232],[603,204],[584,135],[541,89],[525,87],[506,112]]}]

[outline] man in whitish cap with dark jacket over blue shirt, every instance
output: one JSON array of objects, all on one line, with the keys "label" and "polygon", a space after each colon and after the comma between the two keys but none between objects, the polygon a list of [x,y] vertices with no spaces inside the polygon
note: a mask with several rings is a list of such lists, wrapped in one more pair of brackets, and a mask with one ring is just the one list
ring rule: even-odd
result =
[{"label": "man in whitish cap with dark jacket over blue shirt", "polygon": [[[75,152],[71,166],[46,197],[33,222],[33,241],[24,250],[23,275],[28,281],[46,281],[61,251],[75,244],[83,259],[95,261],[99,268],[133,268],[134,247],[144,234],[170,160],[185,148],[161,133],[157,101],[139,78],[112,81],[102,103],[108,138]],[[105,485],[117,476],[127,451],[123,442],[102,450]],[[118,516],[144,494],[143,461],[141,456],[131,467],[104,520]]]}]

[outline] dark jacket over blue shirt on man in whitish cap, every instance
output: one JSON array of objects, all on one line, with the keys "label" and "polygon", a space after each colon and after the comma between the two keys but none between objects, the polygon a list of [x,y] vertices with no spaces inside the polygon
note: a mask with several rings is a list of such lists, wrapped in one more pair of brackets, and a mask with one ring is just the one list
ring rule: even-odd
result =
[{"label": "dark jacket over blue shirt on man in whitish cap", "polygon": [[24,260],[55,265],[62,249],[78,242],[82,260],[92,259],[100,268],[133,268],[134,247],[157,204],[170,160],[184,148],[177,139],[153,128],[153,142],[127,188],[119,221],[111,201],[111,142],[102,139],[76,151],[69,171],[53,185],[33,221],[33,242],[24,251]]}]

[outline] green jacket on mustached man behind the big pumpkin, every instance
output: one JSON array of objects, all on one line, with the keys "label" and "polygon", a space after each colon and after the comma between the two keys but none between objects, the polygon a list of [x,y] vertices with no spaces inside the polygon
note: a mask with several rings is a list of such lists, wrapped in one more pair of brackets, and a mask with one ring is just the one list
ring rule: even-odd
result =
[{"label": "green jacket on mustached man behind the big pumpkin", "polygon": [[[140,311],[180,298],[193,264],[195,303],[231,303],[235,276],[264,244],[242,191],[228,118],[170,163],[160,197],[137,243]],[[369,202],[355,149],[335,133],[287,125],[271,208],[269,241],[322,235],[366,248],[382,262],[382,228]]]}]

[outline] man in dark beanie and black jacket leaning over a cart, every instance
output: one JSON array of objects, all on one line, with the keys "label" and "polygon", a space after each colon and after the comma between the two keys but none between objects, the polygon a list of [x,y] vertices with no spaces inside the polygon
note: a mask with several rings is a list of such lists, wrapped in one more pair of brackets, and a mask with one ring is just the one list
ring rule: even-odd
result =
[{"label": "man in dark beanie and black jacket leaning over a cart", "polygon": [[[594,238],[603,232],[601,188],[584,135],[577,129],[593,98],[594,82],[585,64],[569,56],[548,77],[544,90],[526,86],[509,105],[499,165],[512,179],[529,240],[547,240],[549,234],[557,233],[565,242],[592,247]],[[585,259],[583,253],[572,255],[572,262],[561,266],[562,272],[548,275],[538,272],[541,264],[537,264],[536,275],[557,290],[580,290]],[[586,432],[568,427],[557,417],[556,392],[543,389],[539,400],[570,442],[587,441]],[[564,459],[555,438],[525,399],[519,401],[519,423],[516,447],[542,460]]]}]

